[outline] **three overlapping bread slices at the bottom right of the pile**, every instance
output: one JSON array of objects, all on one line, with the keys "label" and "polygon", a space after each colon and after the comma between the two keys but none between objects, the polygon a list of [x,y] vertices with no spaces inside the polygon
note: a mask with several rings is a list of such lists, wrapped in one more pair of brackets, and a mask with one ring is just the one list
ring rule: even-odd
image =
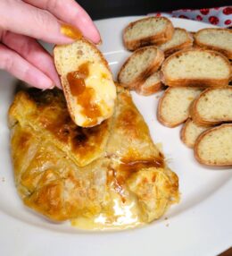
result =
[{"label": "three overlapping bread slices at the bottom right of the pile", "polygon": [[194,148],[195,158],[204,165],[232,166],[232,87],[203,90],[190,115],[181,140]]}]

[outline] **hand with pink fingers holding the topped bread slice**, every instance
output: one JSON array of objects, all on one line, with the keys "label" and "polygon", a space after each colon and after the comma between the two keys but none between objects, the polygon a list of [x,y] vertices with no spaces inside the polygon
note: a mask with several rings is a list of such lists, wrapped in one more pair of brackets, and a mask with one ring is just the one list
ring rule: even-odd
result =
[{"label": "hand with pink fingers holding the topped bread slice", "polygon": [[0,17],[0,69],[40,89],[61,85],[53,57],[36,39],[70,43],[73,38],[62,34],[62,24],[68,23],[100,41],[93,21],[74,0],[0,0]]}]

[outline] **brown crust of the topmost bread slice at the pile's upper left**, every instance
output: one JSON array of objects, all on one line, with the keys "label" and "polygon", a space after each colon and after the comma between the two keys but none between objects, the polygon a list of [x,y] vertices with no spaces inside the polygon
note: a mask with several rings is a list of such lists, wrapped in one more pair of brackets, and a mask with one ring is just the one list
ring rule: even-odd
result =
[{"label": "brown crust of the topmost bread slice at the pile's upper left", "polygon": [[154,45],[154,44],[160,45],[160,44],[163,44],[163,43],[167,42],[168,40],[170,40],[170,38],[172,37],[172,35],[174,33],[174,27],[173,27],[171,21],[169,19],[167,19],[166,17],[162,17],[162,19],[168,21],[166,30],[162,30],[160,33],[153,35],[151,37],[141,38],[141,39],[137,39],[137,40],[133,40],[133,41],[126,40],[125,32],[128,29],[132,28],[137,22],[141,22],[141,21],[145,21],[145,20],[149,20],[149,19],[157,19],[157,17],[147,17],[143,20],[130,22],[128,24],[128,26],[123,30],[123,43],[124,43],[124,46],[128,50],[134,51],[139,47],[145,47],[145,46],[150,46],[150,45]]}]

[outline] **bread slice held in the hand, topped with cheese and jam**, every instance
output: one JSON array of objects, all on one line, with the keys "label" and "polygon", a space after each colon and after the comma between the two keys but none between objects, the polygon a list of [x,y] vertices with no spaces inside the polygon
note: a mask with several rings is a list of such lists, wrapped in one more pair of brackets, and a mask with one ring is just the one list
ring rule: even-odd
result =
[{"label": "bread slice held in the hand, topped with cheese and jam", "polygon": [[61,76],[70,116],[79,126],[102,123],[113,113],[116,87],[101,52],[87,39],[54,47],[54,64]]}]

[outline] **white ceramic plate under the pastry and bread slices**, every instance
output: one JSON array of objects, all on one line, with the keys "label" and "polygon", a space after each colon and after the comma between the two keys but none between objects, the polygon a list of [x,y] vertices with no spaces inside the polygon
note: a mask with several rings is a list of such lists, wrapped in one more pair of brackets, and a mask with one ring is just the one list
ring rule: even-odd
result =
[{"label": "white ceramic plate under the pastry and bread slices", "polygon": [[[96,21],[101,50],[116,74],[129,53],[121,31],[138,17]],[[195,31],[208,24],[171,19],[175,27]],[[161,94],[161,93],[160,93]],[[180,128],[156,119],[157,95],[134,101],[149,125],[153,141],[162,142],[169,165],[179,177],[181,201],[165,216],[142,228],[120,232],[86,232],[69,223],[54,224],[24,207],[18,197],[9,153],[7,109],[12,77],[0,73],[0,254],[1,255],[216,255],[232,245],[232,170],[200,166],[179,139]]]}]

